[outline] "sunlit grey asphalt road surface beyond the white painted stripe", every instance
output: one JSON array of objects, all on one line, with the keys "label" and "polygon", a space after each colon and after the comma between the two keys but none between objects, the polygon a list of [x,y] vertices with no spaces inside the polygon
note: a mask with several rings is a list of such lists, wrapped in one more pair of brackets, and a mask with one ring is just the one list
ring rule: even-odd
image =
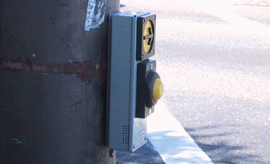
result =
[{"label": "sunlit grey asphalt road surface beyond the white painted stripe", "polygon": [[214,163],[270,163],[270,8],[121,1],[157,14],[160,100]]}]

